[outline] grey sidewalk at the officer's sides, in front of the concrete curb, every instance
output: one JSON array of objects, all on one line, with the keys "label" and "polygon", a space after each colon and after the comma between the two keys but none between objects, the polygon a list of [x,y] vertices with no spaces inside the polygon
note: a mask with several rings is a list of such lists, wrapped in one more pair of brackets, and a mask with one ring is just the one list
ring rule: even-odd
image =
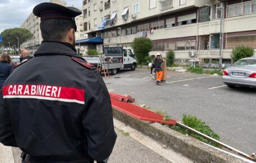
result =
[{"label": "grey sidewalk at the officer's sides, in front of the concrete curb", "polygon": [[[117,141],[109,157],[109,163],[192,162],[116,119],[114,119],[114,126]],[[12,150],[14,157],[12,157]],[[20,150],[18,148],[12,148],[12,150],[11,147],[0,145],[0,163],[20,163]]]}]

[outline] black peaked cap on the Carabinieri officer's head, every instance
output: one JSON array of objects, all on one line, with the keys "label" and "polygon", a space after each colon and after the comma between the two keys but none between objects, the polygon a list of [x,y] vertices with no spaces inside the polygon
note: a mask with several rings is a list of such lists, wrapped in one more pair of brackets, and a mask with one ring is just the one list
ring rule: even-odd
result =
[{"label": "black peaked cap on the Carabinieri officer's head", "polygon": [[74,20],[74,17],[81,15],[82,11],[75,7],[65,7],[56,3],[41,3],[33,9],[34,15],[41,17],[41,20],[45,19],[70,19]]}]

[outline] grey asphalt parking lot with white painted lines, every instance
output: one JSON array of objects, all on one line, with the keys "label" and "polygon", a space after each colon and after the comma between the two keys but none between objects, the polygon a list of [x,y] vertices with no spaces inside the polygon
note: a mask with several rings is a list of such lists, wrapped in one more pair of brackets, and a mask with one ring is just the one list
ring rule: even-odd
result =
[{"label": "grey asphalt parking lot with white painted lines", "polygon": [[228,88],[221,76],[169,71],[161,86],[149,70],[119,71],[104,79],[110,92],[129,94],[138,105],[175,119],[191,114],[206,122],[220,141],[245,153],[256,152],[256,89]]}]

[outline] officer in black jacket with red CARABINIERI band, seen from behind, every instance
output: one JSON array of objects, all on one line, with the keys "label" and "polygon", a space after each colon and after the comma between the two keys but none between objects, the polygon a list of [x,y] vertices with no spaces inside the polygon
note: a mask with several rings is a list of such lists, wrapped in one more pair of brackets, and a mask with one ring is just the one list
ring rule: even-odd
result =
[{"label": "officer in black jacket with red CARABINIERI band, seen from behind", "polygon": [[38,4],[43,42],[0,93],[0,142],[24,162],[107,162],[116,141],[109,93],[95,67],[74,48],[81,11]]}]

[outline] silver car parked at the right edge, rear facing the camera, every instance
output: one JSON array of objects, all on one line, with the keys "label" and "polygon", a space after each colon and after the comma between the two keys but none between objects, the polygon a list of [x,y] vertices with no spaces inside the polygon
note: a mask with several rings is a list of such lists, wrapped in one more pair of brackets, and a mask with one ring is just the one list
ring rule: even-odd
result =
[{"label": "silver car parked at the right edge, rear facing the camera", "polygon": [[223,71],[223,82],[229,88],[236,85],[256,88],[256,57],[242,58]]}]

